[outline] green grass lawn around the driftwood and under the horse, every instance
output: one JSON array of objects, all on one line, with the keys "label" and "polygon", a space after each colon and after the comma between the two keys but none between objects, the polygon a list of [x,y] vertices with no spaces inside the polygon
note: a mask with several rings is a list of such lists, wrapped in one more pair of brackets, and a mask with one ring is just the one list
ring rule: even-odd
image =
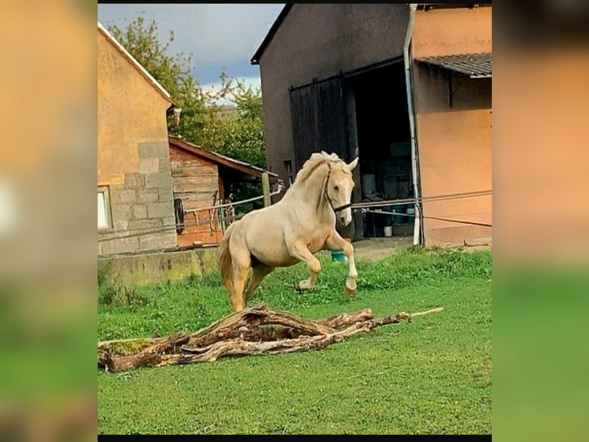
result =
[{"label": "green grass lawn around the driftwood and under the horse", "polygon": [[[347,265],[322,258],[312,292],[304,265],[272,273],[253,304],[305,318],[372,308],[443,306],[322,351],[98,373],[101,434],[491,433],[491,253],[403,252]],[[98,339],[196,331],[231,312],[220,276],[135,290],[99,288]]]}]

